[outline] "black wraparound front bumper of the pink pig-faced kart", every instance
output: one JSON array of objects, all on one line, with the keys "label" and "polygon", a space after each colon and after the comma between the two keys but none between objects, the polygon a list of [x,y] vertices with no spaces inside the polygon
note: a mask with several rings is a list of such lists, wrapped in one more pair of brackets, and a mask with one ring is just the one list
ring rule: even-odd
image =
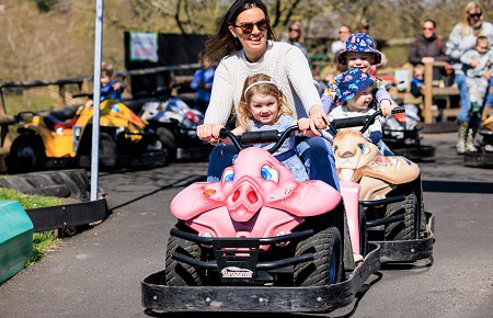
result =
[{"label": "black wraparound front bumper of the pink pig-faced kart", "polygon": [[324,286],[167,286],[162,270],[142,279],[141,303],[158,313],[328,313],[351,304],[379,269],[380,247],[370,249],[346,281]]}]

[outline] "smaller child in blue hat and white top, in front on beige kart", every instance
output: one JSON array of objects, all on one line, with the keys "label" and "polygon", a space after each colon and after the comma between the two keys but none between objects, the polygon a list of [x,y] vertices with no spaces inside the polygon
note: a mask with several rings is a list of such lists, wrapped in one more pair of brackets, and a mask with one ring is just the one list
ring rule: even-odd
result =
[{"label": "smaller child in blue hat and white top, in front on beige kart", "polygon": [[[339,101],[341,106],[333,109],[329,114],[331,121],[371,115],[376,112],[371,109],[371,102],[374,100],[371,90],[375,80],[370,75],[359,69],[349,69],[337,78],[336,84],[340,90]],[[359,130],[360,128],[354,127],[351,129]],[[393,156],[393,152],[381,140],[380,121],[375,121],[363,136],[371,140],[380,149],[381,155]]]}]

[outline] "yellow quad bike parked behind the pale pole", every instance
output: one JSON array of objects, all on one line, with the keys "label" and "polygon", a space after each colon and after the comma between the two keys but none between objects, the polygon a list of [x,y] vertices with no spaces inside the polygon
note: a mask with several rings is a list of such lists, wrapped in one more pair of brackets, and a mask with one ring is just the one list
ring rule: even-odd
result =
[{"label": "yellow quad bike parked behind the pale pole", "polygon": [[[125,104],[104,100],[100,104],[100,167],[150,167],[164,164],[168,148]],[[42,168],[90,167],[92,105],[81,105],[68,121],[55,112],[16,116],[19,136],[13,140],[7,166],[12,172]]]}]

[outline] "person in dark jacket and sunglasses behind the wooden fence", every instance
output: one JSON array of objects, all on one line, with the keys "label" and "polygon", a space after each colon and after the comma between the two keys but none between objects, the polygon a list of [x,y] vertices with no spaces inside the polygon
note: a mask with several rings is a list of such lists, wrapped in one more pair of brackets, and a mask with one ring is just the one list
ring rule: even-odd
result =
[{"label": "person in dark jacket and sunglasses behind the wooden fence", "polygon": [[423,34],[416,38],[409,53],[409,61],[416,66],[419,64],[434,63],[435,60],[449,61],[445,54],[445,44],[436,36],[436,23],[426,20],[423,23]]}]

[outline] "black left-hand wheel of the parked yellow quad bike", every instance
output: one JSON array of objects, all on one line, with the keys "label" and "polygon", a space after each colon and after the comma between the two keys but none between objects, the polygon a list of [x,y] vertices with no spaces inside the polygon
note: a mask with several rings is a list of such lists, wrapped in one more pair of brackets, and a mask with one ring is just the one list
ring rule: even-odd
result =
[{"label": "black left-hand wheel of the parked yellow quad bike", "polygon": [[45,146],[39,136],[20,135],[12,143],[7,163],[10,171],[28,172],[42,168],[45,159]]}]

